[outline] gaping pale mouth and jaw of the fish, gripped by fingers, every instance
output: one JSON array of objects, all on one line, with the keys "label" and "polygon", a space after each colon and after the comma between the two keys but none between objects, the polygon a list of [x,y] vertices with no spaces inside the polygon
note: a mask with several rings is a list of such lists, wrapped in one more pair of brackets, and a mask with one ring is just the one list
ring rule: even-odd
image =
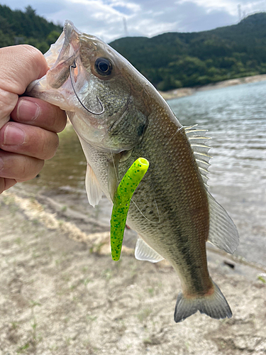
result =
[{"label": "gaping pale mouth and jaw of the fish, gripped by fingers", "polygon": [[79,32],[71,21],[65,21],[64,31],[44,55],[50,69],[44,77],[28,86],[26,94],[65,111],[79,108],[90,114],[103,114],[104,106],[99,97],[93,92],[89,94],[93,76],[90,58],[96,55],[97,40]]}]

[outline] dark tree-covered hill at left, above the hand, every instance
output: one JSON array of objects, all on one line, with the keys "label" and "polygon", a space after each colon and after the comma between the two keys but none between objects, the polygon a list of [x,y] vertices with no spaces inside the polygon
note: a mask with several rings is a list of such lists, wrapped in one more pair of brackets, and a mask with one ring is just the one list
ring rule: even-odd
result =
[{"label": "dark tree-covered hill at left, above the hand", "polygon": [[28,43],[45,53],[61,32],[61,26],[36,15],[31,6],[25,11],[12,11],[0,5],[0,47]]}]

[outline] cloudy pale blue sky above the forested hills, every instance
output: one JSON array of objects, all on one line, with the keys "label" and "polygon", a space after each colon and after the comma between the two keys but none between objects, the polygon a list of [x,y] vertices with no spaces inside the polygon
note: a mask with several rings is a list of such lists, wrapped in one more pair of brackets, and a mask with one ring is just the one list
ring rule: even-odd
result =
[{"label": "cloudy pale blue sky above the forested hills", "polygon": [[0,0],[0,4],[13,10],[31,5],[48,21],[63,25],[71,20],[79,31],[106,42],[126,35],[206,31],[266,11],[265,0]]}]

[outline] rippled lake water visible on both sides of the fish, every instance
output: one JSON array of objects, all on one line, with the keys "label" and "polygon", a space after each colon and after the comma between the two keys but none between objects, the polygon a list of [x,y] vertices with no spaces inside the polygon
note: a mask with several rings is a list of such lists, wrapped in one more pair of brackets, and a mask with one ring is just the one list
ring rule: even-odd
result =
[{"label": "rippled lake water visible on both sides of the fish", "polygon": [[[184,126],[208,129],[210,191],[240,232],[237,254],[266,265],[266,81],[197,92],[170,100]],[[33,183],[55,193],[84,195],[85,160],[72,129]]]}]

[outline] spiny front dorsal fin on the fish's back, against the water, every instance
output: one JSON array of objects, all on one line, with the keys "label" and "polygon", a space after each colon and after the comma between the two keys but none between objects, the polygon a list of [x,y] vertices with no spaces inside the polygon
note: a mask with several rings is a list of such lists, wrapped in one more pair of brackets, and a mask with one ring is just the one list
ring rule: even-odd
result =
[{"label": "spiny front dorsal fin on the fish's back, against the water", "polygon": [[210,137],[206,137],[206,129],[196,129],[197,125],[184,127],[184,131],[187,134],[187,138],[189,140],[190,146],[192,146],[196,163],[199,166],[199,172],[201,173],[201,177],[204,180],[205,186],[208,188],[207,181],[209,180],[209,160],[211,159],[211,155],[209,155],[209,149],[211,147],[206,146],[206,141],[211,139]]}]

